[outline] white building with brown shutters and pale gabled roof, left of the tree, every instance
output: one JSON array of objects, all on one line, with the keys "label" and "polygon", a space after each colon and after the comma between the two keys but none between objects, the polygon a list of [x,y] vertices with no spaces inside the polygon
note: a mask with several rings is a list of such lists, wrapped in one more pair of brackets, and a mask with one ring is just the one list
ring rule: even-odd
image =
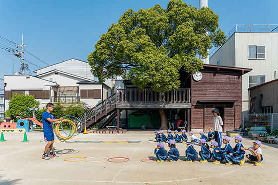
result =
[{"label": "white building with brown shutters and pale gabled roof, left of the tree", "polygon": [[94,81],[90,69],[88,62],[70,59],[34,71],[37,76],[5,75],[5,110],[13,93],[34,95],[41,102],[40,108],[58,100],[83,101],[94,106],[108,96],[111,81],[108,85]]}]

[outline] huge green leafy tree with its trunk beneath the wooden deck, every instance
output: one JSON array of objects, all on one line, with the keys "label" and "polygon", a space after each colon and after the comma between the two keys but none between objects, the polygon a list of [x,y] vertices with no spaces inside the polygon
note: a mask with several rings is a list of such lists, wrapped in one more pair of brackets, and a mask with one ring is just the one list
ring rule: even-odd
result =
[{"label": "huge green leafy tree with its trunk beneath the wooden deck", "polygon": [[[149,9],[127,10],[118,23],[100,36],[88,56],[92,73],[100,82],[122,76],[139,88],[151,84],[154,91],[179,88],[181,66],[188,73],[203,69],[199,56],[225,41],[218,15],[208,7],[197,9],[182,0],[170,0]],[[160,110],[161,129],[167,128]]]}]

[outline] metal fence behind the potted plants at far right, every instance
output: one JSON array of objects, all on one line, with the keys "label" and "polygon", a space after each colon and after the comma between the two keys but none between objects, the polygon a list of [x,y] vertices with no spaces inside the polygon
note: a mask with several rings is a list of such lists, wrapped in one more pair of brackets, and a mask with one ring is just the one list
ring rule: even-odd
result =
[{"label": "metal fence behind the potted plants at far right", "polygon": [[[256,117],[257,118],[254,118]],[[267,116],[267,119],[259,119],[259,116]],[[253,118],[251,118],[253,117]],[[267,124],[262,124],[267,122]],[[278,113],[276,114],[243,114],[242,116],[242,127],[251,126],[270,126],[271,131],[278,129]]]}]

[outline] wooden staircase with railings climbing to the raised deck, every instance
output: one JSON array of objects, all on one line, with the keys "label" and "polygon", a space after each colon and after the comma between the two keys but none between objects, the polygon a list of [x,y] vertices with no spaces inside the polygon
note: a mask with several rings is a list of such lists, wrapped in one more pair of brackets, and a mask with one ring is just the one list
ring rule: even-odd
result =
[{"label": "wooden staircase with railings climbing to the raised deck", "polygon": [[77,119],[74,120],[77,132],[80,132],[81,124],[83,125],[82,130],[84,130],[84,123],[86,123],[86,128],[90,128],[116,110],[116,93],[114,93],[79,116],[78,119],[81,123]]}]

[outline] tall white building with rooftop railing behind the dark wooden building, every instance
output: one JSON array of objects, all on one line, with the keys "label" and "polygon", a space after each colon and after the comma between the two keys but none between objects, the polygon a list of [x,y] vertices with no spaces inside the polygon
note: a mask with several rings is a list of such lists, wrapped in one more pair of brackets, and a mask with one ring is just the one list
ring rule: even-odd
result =
[{"label": "tall white building with rooftop railing behind the dark wooden building", "polygon": [[[248,88],[277,79],[278,25],[236,25],[209,64],[253,69],[242,76],[242,113],[248,113]],[[232,90],[231,90],[232,91]]]}]

